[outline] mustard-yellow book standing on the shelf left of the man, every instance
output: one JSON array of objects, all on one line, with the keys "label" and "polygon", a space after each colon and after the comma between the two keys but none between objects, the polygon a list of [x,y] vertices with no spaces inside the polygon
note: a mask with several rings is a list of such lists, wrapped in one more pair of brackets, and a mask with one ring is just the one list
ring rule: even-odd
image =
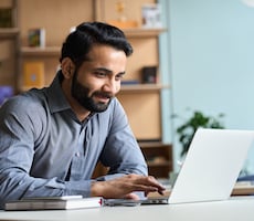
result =
[{"label": "mustard-yellow book standing on the shelf left of the man", "polygon": [[23,65],[23,86],[42,87],[44,86],[44,63],[25,62]]}]

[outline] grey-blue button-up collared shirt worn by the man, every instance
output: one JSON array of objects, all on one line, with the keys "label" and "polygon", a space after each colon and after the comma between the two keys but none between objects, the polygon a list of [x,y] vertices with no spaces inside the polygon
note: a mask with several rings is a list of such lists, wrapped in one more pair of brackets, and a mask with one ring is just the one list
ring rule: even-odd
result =
[{"label": "grey-blue button-up collared shirt worn by the man", "polygon": [[81,123],[64,97],[59,74],[50,87],[20,94],[0,108],[0,207],[36,196],[91,194],[97,161],[107,180],[147,175],[126,114],[114,98]]}]

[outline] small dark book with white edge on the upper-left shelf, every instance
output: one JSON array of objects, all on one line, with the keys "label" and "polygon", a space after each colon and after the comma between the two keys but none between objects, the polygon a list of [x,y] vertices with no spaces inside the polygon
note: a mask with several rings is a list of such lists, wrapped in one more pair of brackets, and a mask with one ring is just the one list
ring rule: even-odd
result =
[{"label": "small dark book with white edge on the upper-left shelf", "polygon": [[29,29],[28,31],[29,46],[45,46],[45,29]]}]

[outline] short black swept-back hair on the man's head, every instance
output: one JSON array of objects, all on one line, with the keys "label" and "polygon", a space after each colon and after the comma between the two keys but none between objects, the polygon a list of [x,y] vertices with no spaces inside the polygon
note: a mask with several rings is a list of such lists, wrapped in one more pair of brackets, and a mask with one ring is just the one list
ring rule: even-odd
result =
[{"label": "short black swept-back hair on the man's head", "polygon": [[70,57],[78,67],[87,57],[87,53],[95,44],[107,44],[125,52],[133,53],[133,48],[124,32],[116,27],[103,22],[84,22],[68,34],[62,46],[60,62]]}]

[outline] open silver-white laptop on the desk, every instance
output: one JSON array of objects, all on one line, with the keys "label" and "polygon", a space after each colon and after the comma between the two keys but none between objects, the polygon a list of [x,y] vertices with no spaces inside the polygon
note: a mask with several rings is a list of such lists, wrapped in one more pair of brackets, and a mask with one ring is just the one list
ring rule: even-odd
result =
[{"label": "open silver-white laptop on the desk", "polygon": [[109,199],[106,206],[226,200],[239,178],[254,130],[200,128],[195,131],[170,194],[145,200]]}]

